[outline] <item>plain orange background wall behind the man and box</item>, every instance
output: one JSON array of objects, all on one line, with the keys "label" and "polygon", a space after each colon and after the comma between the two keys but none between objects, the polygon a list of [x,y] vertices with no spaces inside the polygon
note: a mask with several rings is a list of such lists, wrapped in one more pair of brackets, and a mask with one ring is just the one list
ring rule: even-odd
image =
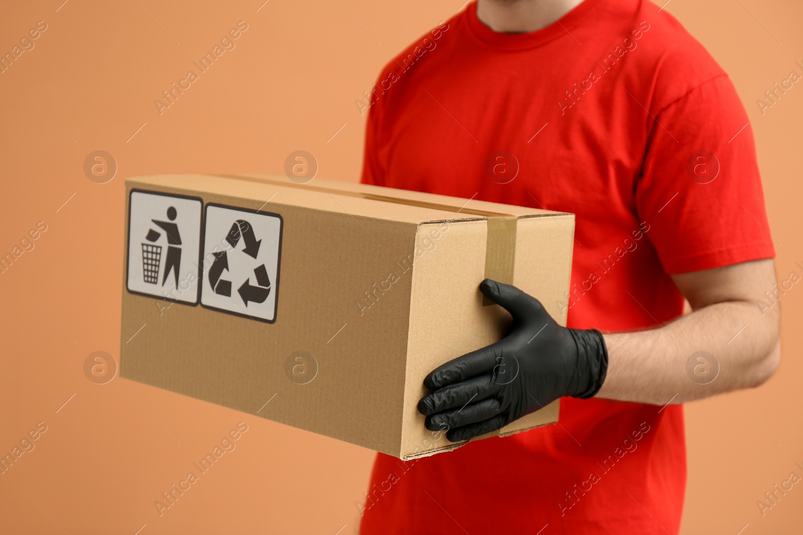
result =
[{"label": "plain orange background wall behind the man and box", "polygon": [[[462,1],[6,6],[0,51],[39,20],[47,30],[0,74],[0,255],[37,222],[47,231],[0,274],[0,453],[40,421],[47,432],[0,476],[4,533],[356,533],[373,452],[125,379],[95,384],[84,360],[93,351],[119,356],[126,176],[281,173],[287,155],[304,149],[318,176],[357,180],[365,116],[355,99]],[[794,265],[803,261],[803,85],[764,115],[756,106],[789,71],[803,74],[794,64],[803,63],[803,4],[674,0],[666,10],[736,83],[782,244],[778,274],[803,274]],[[234,50],[160,116],[153,100],[239,20],[248,30]],[[99,149],[119,166],[106,184],[84,175],[84,159]],[[803,464],[798,286],[781,300],[777,375],[687,406],[683,533],[735,534],[745,525],[745,535],[800,533],[803,484],[764,517],[756,507],[789,472],[803,476],[794,466]],[[234,452],[160,517],[161,492],[242,420],[249,429]]]}]

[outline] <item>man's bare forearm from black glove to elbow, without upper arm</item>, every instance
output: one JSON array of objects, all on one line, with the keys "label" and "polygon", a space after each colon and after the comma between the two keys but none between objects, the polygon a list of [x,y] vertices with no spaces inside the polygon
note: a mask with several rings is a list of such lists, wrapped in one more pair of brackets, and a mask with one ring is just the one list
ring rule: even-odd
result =
[{"label": "man's bare forearm from black glove to elbow, without upper arm", "polygon": [[608,377],[597,397],[663,405],[764,383],[781,349],[777,306],[763,312],[756,302],[719,302],[657,329],[605,334]]}]

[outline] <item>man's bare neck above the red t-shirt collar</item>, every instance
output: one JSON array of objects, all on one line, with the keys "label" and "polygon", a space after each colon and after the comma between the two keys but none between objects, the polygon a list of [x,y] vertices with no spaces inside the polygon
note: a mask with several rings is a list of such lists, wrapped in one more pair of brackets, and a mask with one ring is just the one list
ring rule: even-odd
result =
[{"label": "man's bare neck above the red t-shirt collar", "polygon": [[549,26],[583,0],[477,0],[477,18],[491,30],[522,34]]}]

